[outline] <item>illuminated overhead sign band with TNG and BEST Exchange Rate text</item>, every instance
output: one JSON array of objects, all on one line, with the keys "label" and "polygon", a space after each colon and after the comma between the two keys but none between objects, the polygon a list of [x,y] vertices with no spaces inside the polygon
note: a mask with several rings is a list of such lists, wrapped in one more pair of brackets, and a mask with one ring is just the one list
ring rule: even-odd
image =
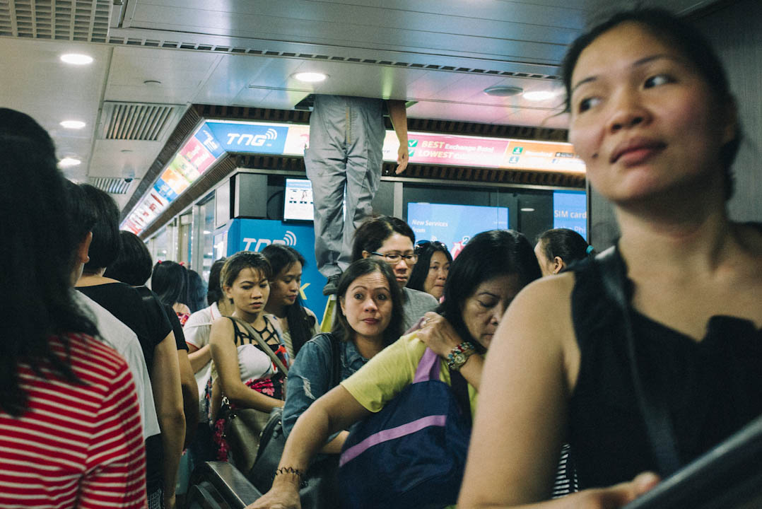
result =
[{"label": "illuminated overhead sign band with TNG and BEST Exchange Rate text", "polygon": [[[303,156],[309,144],[309,126],[230,120],[203,122],[171,159],[149,194],[135,206],[122,228],[139,233],[169,203],[227,152]],[[396,161],[399,141],[387,131],[385,161]],[[584,173],[584,163],[570,143],[538,142],[480,136],[408,133],[410,162],[479,168]],[[156,200],[150,194],[156,194]],[[137,231],[136,231],[137,230]]]}]

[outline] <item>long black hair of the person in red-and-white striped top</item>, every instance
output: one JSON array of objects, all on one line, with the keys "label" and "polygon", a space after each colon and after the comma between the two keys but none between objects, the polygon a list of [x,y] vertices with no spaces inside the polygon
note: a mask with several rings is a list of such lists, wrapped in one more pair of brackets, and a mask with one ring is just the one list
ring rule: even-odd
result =
[{"label": "long black hair of the person in red-and-white striped top", "polygon": [[[0,408],[22,415],[27,393],[19,363],[42,374],[41,364],[72,383],[66,335],[97,335],[98,328],[72,298],[75,252],[84,240],[70,226],[72,213],[63,175],[56,168],[53,140],[31,117],[0,108]],[[50,348],[62,341],[66,357]]]}]

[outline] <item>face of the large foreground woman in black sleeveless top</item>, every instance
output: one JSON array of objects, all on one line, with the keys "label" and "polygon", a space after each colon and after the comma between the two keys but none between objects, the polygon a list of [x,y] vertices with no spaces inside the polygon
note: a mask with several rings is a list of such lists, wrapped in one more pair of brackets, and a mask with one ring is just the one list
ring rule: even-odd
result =
[{"label": "face of the large foreground woman in black sleeveless top", "polygon": [[591,184],[614,203],[690,184],[722,188],[719,149],[735,136],[735,110],[717,103],[674,47],[623,23],[579,56],[569,141]]}]

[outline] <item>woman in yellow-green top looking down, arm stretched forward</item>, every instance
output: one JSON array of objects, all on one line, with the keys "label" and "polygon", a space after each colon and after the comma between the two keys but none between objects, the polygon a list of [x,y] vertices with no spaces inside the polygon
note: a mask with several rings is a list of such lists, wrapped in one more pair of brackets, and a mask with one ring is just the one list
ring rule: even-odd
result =
[{"label": "woman in yellow-green top looking down, arm stretched forward", "polygon": [[[315,453],[331,434],[379,411],[411,384],[426,347],[443,358],[441,379],[460,399],[467,395],[473,415],[483,355],[501,316],[514,296],[539,277],[532,245],[520,233],[491,230],[475,235],[450,267],[439,314],[424,315],[417,330],[376,354],[299,417],[273,487],[248,509],[301,507],[299,483]],[[340,307],[362,297],[361,292],[347,295]]]}]

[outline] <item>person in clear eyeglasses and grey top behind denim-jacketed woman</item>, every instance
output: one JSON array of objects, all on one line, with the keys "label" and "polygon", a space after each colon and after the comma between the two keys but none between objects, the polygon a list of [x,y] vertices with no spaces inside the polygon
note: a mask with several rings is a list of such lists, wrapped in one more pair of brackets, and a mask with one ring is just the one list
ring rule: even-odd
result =
[{"label": "person in clear eyeglasses and grey top behind denim-jacketed woman", "polygon": [[352,261],[374,257],[392,266],[395,280],[402,290],[402,331],[407,331],[418,319],[437,308],[433,296],[405,287],[418,261],[413,250],[415,233],[402,219],[375,216],[367,219],[354,233]]}]

